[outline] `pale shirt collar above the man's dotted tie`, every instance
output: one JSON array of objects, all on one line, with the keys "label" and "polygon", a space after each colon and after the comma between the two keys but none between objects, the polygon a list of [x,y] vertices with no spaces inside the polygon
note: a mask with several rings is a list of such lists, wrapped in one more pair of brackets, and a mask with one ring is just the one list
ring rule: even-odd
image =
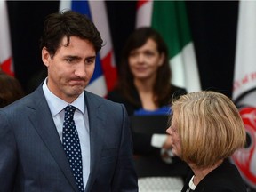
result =
[{"label": "pale shirt collar above the man's dotted tie", "polygon": [[84,114],[84,92],[82,92],[76,100],[74,100],[72,103],[68,103],[65,100],[61,100],[59,97],[57,97],[55,94],[53,94],[48,86],[47,86],[47,77],[44,80],[43,84],[43,91],[45,98],[48,102],[49,108],[51,110],[52,116],[56,116],[60,113],[63,108],[66,108],[68,105],[72,105],[79,109]]}]

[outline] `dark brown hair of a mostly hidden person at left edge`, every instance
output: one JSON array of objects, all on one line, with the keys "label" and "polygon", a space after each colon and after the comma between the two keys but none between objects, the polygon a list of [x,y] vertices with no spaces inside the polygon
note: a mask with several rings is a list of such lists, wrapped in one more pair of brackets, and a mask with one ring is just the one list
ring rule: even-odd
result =
[{"label": "dark brown hair of a mostly hidden person at left edge", "polygon": [[0,69],[0,108],[19,100],[25,95],[20,82]]}]

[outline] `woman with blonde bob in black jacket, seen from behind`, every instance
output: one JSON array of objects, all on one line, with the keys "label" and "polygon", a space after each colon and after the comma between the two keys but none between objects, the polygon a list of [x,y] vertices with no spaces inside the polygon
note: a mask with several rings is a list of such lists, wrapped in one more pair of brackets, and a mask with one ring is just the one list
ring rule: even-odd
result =
[{"label": "woman with blonde bob in black jacket, seen from behind", "polygon": [[193,171],[181,192],[246,192],[236,166],[227,159],[245,144],[234,103],[218,92],[192,92],[174,100],[172,111],[166,131],[172,152]]}]

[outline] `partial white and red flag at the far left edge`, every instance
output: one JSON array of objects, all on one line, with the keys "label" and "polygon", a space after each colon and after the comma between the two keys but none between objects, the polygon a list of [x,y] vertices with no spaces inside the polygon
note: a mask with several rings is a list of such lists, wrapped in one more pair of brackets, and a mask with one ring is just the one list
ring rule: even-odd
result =
[{"label": "partial white and red flag at the far left edge", "polygon": [[0,1],[0,26],[0,70],[2,68],[6,74],[14,76],[9,20],[5,1]]}]

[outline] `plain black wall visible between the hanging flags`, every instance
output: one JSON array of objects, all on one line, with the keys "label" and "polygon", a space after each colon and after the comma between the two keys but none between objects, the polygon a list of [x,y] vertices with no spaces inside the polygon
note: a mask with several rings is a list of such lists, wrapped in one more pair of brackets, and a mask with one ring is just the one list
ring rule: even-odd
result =
[{"label": "plain black wall visible between the hanging flags", "polygon": [[[236,50],[237,1],[188,1],[188,20],[194,39],[203,90],[232,94]],[[44,17],[59,10],[59,1],[8,1],[12,54],[16,77],[31,92],[44,69],[38,40]],[[107,1],[108,20],[118,60],[135,26],[135,1]]]}]

